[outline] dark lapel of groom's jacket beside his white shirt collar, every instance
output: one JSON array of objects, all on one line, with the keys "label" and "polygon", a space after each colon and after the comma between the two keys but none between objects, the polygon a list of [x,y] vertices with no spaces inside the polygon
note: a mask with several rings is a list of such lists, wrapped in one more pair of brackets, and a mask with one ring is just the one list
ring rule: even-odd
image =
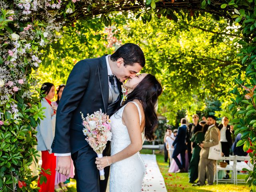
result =
[{"label": "dark lapel of groom's jacket beside his white shirt collar", "polygon": [[105,112],[108,111],[108,68],[106,63],[106,55],[100,58],[98,65],[98,76],[100,81],[100,91],[104,103]]}]

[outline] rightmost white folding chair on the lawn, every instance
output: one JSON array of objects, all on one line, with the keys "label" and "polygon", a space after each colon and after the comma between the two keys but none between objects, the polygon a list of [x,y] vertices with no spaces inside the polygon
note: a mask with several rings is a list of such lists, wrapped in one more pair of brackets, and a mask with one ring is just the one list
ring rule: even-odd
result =
[{"label": "rightmost white folding chair on the lawn", "polygon": [[[240,162],[237,162],[240,161]],[[244,161],[248,161],[247,163]],[[247,175],[248,173],[241,173],[243,168],[246,168],[248,170],[253,170],[253,165],[250,163],[250,156],[237,156],[235,158],[235,179],[236,179],[236,184],[239,183],[245,183],[244,179],[237,179],[237,175]],[[238,173],[238,171],[240,173]]]}]

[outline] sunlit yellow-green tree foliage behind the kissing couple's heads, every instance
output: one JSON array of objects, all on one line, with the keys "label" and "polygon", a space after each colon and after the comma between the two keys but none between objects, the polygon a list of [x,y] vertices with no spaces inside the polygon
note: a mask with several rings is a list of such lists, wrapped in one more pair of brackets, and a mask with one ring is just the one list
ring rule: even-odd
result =
[{"label": "sunlit yellow-green tree foliage behind the kissing couple's heads", "polygon": [[78,21],[72,28],[65,27],[62,39],[44,50],[48,56],[42,60],[51,64],[41,66],[42,82],[65,83],[76,61],[111,54],[120,42],[133,42],[146,56],[142,72],[156,75],[164,87],[160,114],[171,124],[182,109],[190,115],[205,110],[208,115],[206,106],[211,108],[211,104],[207,101],[229,100],[228,91],[234,86],[231,74],[236,72],[237,44],[231,39],[236,26],[226,29],[224,19],[215,21],[210,15],[191,22],[179,19],[179,24],[161,18],[143,25],[141,19],[124,20],[116,14],[108,28],[99,18]]}]

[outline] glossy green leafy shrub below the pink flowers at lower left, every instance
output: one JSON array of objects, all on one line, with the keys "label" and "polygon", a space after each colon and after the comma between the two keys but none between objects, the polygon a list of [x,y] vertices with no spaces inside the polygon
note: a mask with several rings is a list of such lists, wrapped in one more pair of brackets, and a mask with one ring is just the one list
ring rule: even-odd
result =
[{"label": "glossy green leafy shrub below the pink flowers at lower left", "polygon": [[[18,116],[12,113],[16,105]],[[37,191],[37,186],[32,184],[37,176],[32,176],[30,165],[38,156],[34,148],[37,144],[35,127],[40,123],[39,118],[44,117],[40,100],[35,96],[24,100],[16,94],[16,99],[10,98],[5,108],[0,108],[0,113],[4,119],[0,129],[1,191],[14,191],[18,182],[23,182],[24,186],[17,188],[18,191]]]}]

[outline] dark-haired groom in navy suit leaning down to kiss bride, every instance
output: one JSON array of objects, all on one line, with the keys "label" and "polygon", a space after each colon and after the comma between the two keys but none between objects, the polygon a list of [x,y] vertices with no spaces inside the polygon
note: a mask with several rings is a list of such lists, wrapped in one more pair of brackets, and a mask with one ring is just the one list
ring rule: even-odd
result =
[{"label": "dark-haired groom in navy suit leaning down to kiss bride", "polygon": [[[58,156],[56,170],[64,175],[70,173],[71,156],[78,192],[105,192],[110,168],[104,169],[106,179],[99,180],[97,155],[85,140],[80,112],[86,116],[102,109],[112,115],[120,106],[121,82],[136,76],[144,65],[140,47],[127,43],[112,55],[81,60],[70,72],[58,105],[52,152]],[[106,155],[110,156],[109,143]]]}]

